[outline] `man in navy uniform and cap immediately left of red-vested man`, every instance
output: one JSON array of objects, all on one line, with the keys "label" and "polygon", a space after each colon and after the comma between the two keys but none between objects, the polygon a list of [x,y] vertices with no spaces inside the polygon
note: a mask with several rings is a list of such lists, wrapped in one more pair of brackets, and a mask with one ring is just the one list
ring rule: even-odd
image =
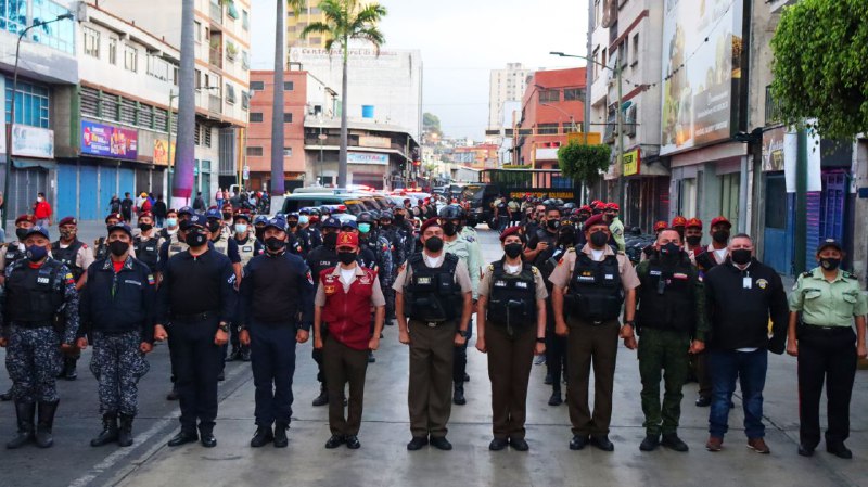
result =
[{"label": "man in navy uniform and cap immediately left of red-vested man", "polygon": [[[289,444],[295,344],[308,339],[314,321],[314,281],[305,261],[286,251],[286,221],[265,225],[263,255],[244,268],[241,343],[251,347],[256,386],[256,433],[251,447]],[[273,424],[273,431],[272,431]]]}]

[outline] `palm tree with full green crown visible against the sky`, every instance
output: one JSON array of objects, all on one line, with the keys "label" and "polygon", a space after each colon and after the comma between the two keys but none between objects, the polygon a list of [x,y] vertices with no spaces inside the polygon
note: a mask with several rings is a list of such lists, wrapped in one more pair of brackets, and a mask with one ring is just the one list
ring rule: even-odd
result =
[{"label": "palm tree with full green crown visible against the sky", "polygon": [[310,34],[328,36],[326,50],[331,52],[337,43],[343,54],[343,79],[341,84],[341,155],[337,163],[337,185],[346,188],[346,148],[347,148],[347,120],[346,120],[346,92],[347,92],[347,61],[349,59],[349,41],[353,39],[366,40],[373,44],[376,54],[380,47],[385,43],[385,37],[376,24],[386,15],[386,8],[375,2],[361,2],[359,0],[322,0],[319,9],[326,15],[324,22],[315,22],[302,30],[301,37]]}]

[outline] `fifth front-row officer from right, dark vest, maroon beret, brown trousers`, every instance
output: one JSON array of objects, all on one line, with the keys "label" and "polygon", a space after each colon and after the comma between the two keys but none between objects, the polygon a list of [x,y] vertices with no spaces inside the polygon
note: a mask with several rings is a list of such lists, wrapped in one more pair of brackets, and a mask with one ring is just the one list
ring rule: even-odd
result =
[{"label": "fifth front-row officer from right, dark vest, maroon beret, brown trousers", "polygon": [[527,383],[534,355],[546,351],[546,284],[536,267],[522,262],[520,227],[500,234],[503,257],[488,265],[480,283],[476,348],[488,354],[492,380],[493,451],[507,444],[529,449],[524,439]]}]

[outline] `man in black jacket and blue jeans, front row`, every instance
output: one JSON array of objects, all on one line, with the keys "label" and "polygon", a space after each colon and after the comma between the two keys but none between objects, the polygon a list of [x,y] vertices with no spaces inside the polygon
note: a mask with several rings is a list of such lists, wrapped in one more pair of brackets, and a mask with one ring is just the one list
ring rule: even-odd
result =
[{"label": "man in black jacket and blue jeans, front row", "polygon": [[764,439],[763,388],[768,351],[783,354],[787,339],[787,293],[780,275],[753,257],[753,240],[740,233],[729,242],[727,261],[705,272],[703,280],[712,323],[709,371],[713,388],[705,449],[723,448],[729,403],[739,380],[748,448],[769,453]]}]

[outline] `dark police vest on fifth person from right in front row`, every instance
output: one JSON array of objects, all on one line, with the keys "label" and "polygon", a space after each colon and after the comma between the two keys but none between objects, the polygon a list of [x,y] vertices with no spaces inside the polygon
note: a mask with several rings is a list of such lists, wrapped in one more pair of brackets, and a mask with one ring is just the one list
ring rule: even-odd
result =
[{"label": "dark police vest on fifth person from right in front row", "polygon": [[506,326],[511,335],[515,329],[536,323],[536,282],[534,267],[523,264],[518,274],[507,273],[503,260],[492,264],[492,290],[486,319]]}]

